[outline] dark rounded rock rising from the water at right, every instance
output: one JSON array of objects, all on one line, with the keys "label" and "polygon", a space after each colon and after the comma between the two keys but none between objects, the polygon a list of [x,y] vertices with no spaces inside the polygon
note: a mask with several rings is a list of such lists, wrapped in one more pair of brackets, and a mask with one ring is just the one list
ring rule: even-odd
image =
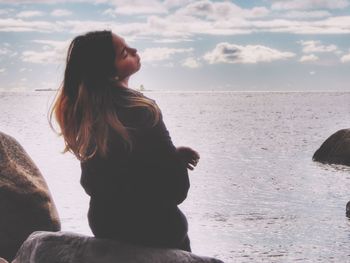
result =
[{"label": "dark rounded rock rising from the water at right", "polygon": [[321,163],[350,166],[350,129],[339,130],[328,137],[312,159]]}]

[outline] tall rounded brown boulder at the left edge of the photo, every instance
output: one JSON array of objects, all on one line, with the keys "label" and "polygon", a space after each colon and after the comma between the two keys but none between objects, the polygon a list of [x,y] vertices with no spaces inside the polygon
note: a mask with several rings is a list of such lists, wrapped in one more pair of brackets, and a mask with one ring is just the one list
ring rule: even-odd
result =
[{"label": "tall rounded brown boulder at the left edge of the photo", "polygon": [[1,132],[0,211],[0,257],[8,261],[32,232],[61,227],[40,171],[16,140]]}]

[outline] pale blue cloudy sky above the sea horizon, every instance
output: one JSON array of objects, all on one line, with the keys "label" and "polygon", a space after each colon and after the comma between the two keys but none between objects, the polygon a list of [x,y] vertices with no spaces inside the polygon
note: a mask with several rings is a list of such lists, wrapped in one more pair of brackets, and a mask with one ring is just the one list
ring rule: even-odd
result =
[{"label": "pale blue cloudy sky above the sea horizon", "polygon": [[55,89],[77,35],[112,30],[169,91],[350,91],[350,0],[0,0],[0,91]]}]

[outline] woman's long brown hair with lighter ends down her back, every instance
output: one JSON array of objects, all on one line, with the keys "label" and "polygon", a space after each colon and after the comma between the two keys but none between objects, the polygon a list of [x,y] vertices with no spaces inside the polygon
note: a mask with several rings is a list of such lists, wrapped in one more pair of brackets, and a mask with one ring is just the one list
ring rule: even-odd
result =
[{"label": "woman's long brown hair with lighter ends down her back", "polygon": [[111,31],[94,31],[78,36],[71,42],[66,59],[64,79],[60,86],[52,116],[60,126],[65,142],[64,152],[70,151],[81,161],[95,154],[108,154],[111,131],[132,149],[128,127],[118,118],[116,108],[145,107],[151,114],[151,125],[157,124],[160,111],[150,99],[125,87],[118,87],[113,77],[115,51]]}]

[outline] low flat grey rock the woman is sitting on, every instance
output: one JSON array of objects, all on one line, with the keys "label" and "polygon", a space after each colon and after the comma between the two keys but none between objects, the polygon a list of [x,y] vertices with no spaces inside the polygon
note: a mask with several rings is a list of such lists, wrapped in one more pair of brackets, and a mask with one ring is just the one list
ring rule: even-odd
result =
[{"label": "low flat grey rock the woman is sitting on", "polygon": [[223,263],[178,249],[147,248],[69,232],[35,232],[12,263]]}]

